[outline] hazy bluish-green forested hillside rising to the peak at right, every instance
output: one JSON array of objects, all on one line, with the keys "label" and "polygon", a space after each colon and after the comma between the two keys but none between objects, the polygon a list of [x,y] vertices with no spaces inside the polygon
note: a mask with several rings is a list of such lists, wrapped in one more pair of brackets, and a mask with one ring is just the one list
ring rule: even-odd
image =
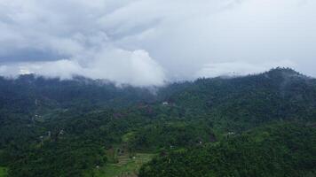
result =
[{"label": "hazy bluish-green forested hillside rising to the peak at right", "polygon": [[316,118],[316,80],[291,69],[186,84],[170,102],[235,131],[273,120]]}]

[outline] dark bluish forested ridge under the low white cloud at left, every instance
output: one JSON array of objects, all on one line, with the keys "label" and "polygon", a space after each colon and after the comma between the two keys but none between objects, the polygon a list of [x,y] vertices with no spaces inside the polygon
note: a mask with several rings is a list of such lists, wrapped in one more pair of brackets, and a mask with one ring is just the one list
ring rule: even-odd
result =
[{"label": "dark bluish forested ridge under the low white cloud at left", "polygon": [[130,86],[116,87],[109,81],[93,81],[83,77],[60,81],[33,74],[20,75],[15,80],[0,78],[1,107],[31,112],[36,106],[70,108],[73,106],[123,107],[154,100],[150,89]]}]

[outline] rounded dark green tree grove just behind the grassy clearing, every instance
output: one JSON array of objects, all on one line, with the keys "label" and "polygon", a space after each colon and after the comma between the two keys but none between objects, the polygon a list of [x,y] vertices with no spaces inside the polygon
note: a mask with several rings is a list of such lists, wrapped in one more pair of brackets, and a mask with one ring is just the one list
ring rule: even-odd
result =
[{"label": "rounded dark green tree grove just behind the grassy clearing", "polygon": [[130,138],[134,150],[178,149],[216,141],[206,122],[178,121],[140,127]]}]

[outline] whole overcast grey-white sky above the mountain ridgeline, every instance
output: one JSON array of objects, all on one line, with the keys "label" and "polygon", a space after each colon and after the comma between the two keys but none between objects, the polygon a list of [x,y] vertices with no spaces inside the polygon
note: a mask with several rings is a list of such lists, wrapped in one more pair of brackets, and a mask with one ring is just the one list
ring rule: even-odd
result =
[{"label": "whole overcast grey-white sky above the mountain ridgeline", "polygon": [[284,66],[316,77],[314,0],[0,0],[0,75],[133,86]]}]

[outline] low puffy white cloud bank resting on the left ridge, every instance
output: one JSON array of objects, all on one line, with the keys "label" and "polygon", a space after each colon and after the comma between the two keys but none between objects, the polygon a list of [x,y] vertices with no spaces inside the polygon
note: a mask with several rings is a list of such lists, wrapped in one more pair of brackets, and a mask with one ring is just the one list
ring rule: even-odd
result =
[{"label": "low puffy white cloud bank resting on the left ridge", "polygon": [[0,74],[16,77],[17,74],[35,73],[45,77],[71,79],[83,75],[92,79],[106,79],[116,84],[132,86],[162,86],[165,81],[163,69],[145,50],[105,49],[89,56],[90,62],[80,64],[80,59],[14,63],[0,66]]}]

